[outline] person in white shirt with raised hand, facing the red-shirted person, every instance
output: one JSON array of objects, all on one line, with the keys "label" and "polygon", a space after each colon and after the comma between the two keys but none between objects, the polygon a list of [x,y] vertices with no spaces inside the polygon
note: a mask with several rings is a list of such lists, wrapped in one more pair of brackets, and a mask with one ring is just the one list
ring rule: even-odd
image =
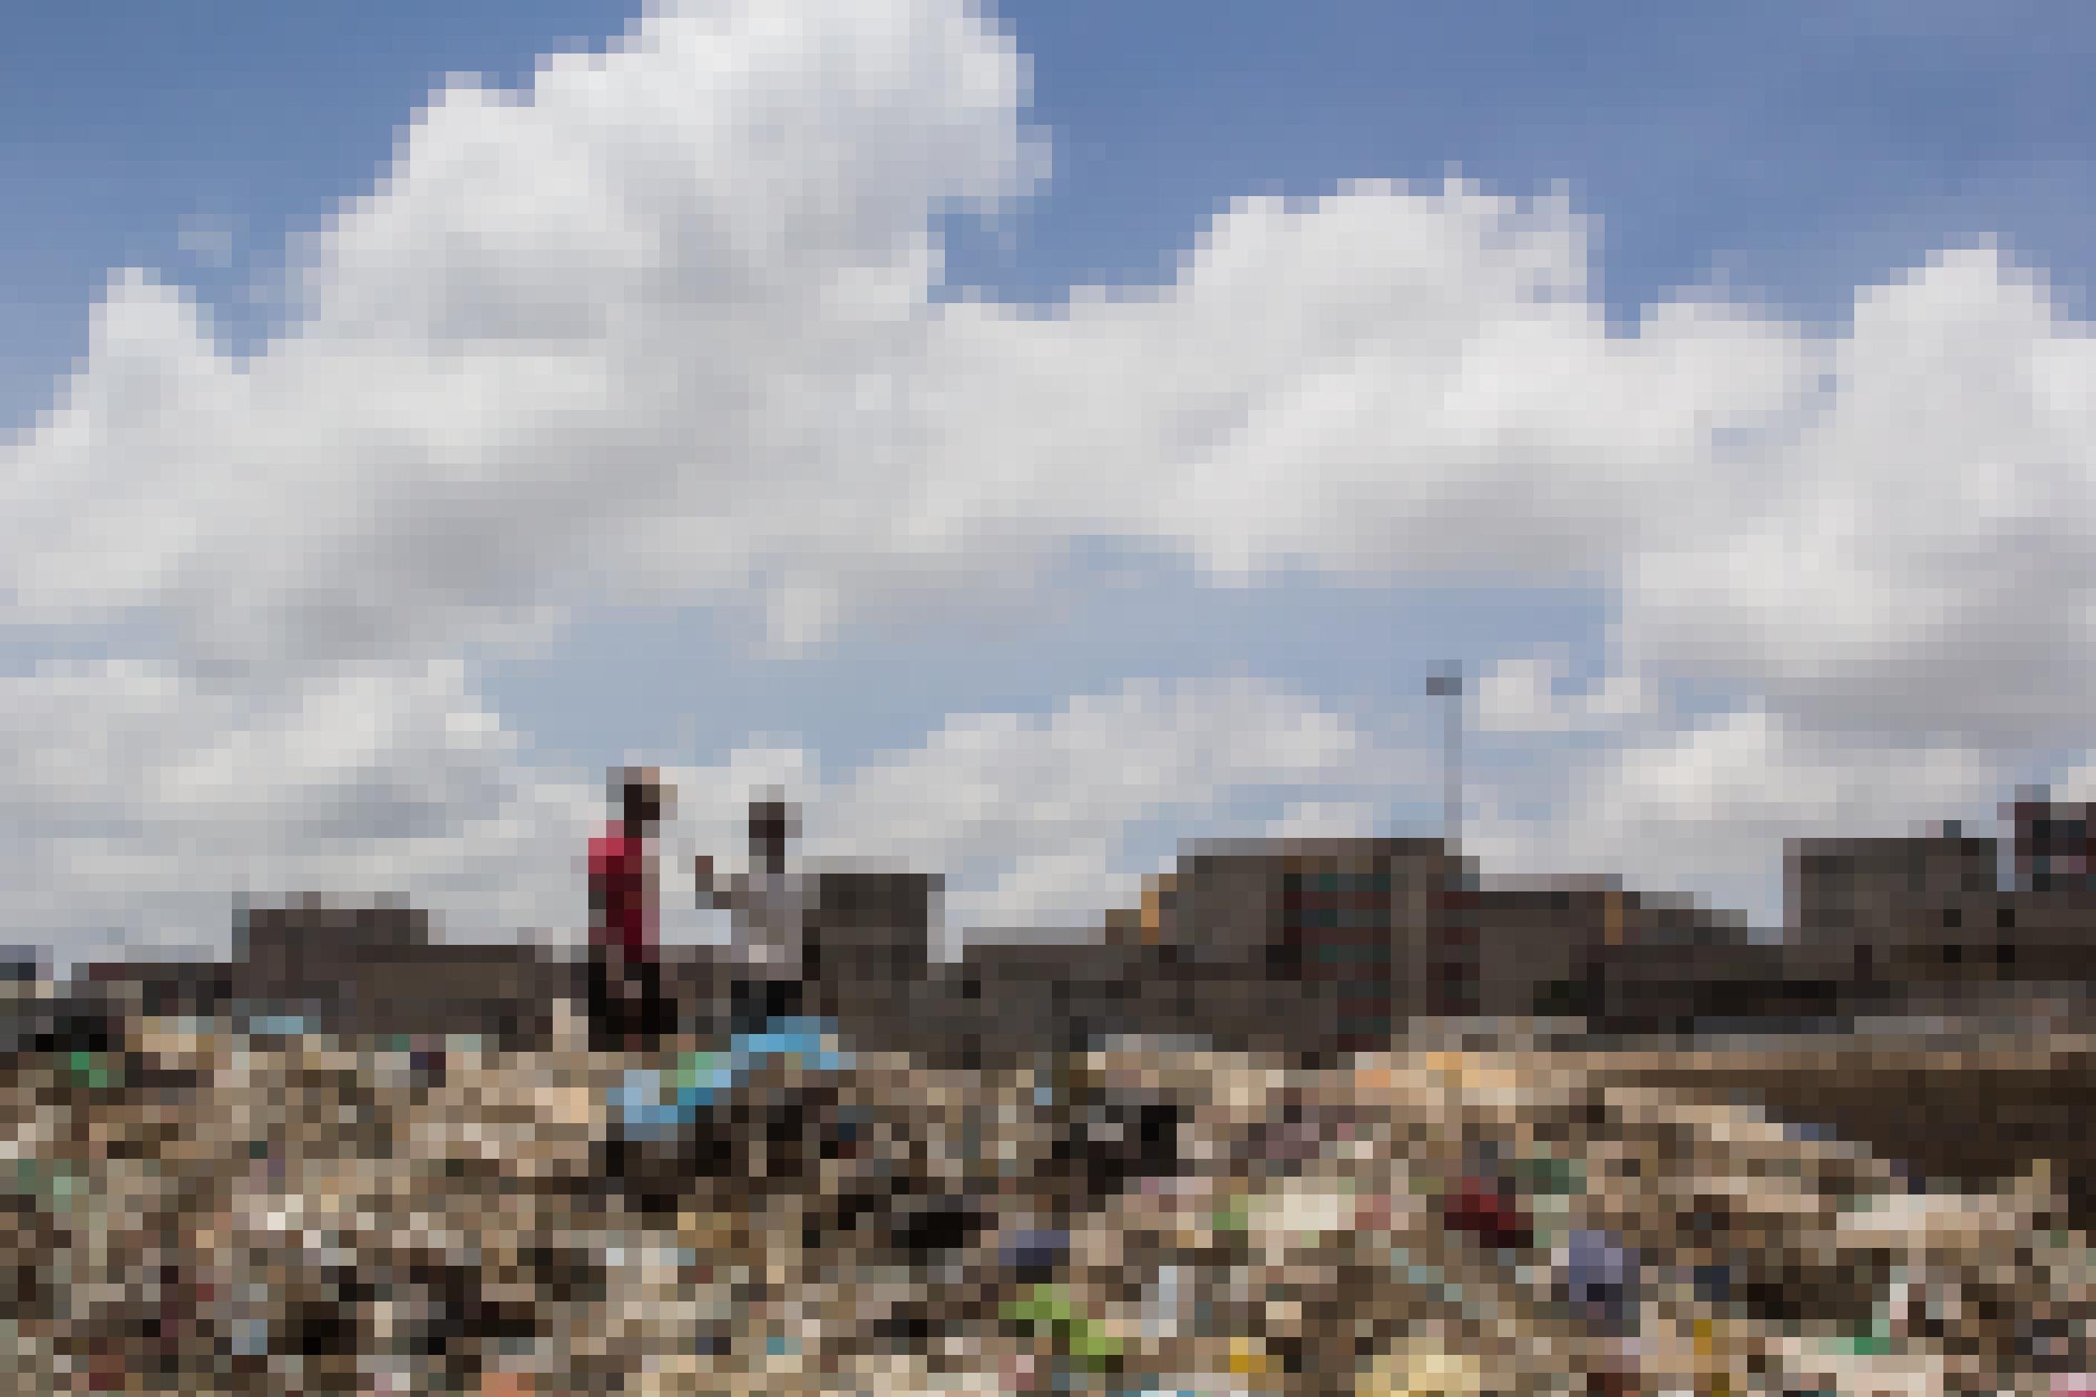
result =
[{"label": "person in white shirt with raised hand, facing the red-shirted person", "polygon": [[807,882],[786,867],[786,846],[801,831],[801,811],[786,800],[750,802],[750,871],[721,888],[713,859],[694,859],[700,907],[734,913],[738,974],[732,1028],[757,1033],[796,1014],[805,982]]}]

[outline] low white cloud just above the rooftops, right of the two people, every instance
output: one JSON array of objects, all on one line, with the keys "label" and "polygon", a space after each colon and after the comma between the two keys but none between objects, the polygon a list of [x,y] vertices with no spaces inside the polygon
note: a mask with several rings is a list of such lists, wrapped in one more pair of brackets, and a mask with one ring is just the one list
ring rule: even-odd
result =
[{"label": "low white cloud just above the rooftops, right of the two people", "polygon": [[1167,861],[1140,848],[1170,846],[1186,817],[1209,838],[1367,834],[1385,792],[1425,771],[1404,744],[1289,685],[1134,681],[1046,716],[956,714],[924,746],[834,777],[801,748],[667,775],[679,880],[690,852],[738,863],[744,802],[780,792],[803,802],[817,859],[947,873],[956,951],[960,932],[1096,930],[1102,907],[1132,907]]}]

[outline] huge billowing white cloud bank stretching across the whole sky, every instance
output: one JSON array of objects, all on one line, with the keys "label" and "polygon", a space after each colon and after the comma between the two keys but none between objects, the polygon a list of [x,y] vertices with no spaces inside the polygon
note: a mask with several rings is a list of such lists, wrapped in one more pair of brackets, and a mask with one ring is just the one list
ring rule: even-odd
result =
[{"label": "huge billowing white cloud bank stretching across the whole sky", "polygon": [[[1566,199],[1364,184],[1235,205],[1157,291],[939,304],[937,218],[1046,168],[1023,103],[1023,54],[962,0],[664,6],[524,90],[436,92],[245,360],[176,287],[115,276],[0,457],[0,599],[132,653],[6,681],[0,919],[208,938],[212,899],[319,882],[558,922],[547,850],[593,792],[532,769],[461,653],[589,601],[820,645],[1023,603],[1082,536],[1224,584],[1608,586],[1597,697],[1509,670],[1473,700],[1597,739],[1528,777],[1555,781],[1541,815],[1482,792],[1507,865],[1765,861],[1830,808],[1964,808],[2025,748],[2083,744],[2096,360],[2000,253],[1870,289],[1838,339],[1708,297],[1626,335]],[[1750,702],[1689,718],[1683,679]],[[1195,723],[1203,750],[1279,731],[1199,704],[1245,725]],[[1002,869],[998,917],[1052,919],[1140,811],[1264,779],[1167,760],[1105,796],[1105,744],[1136,735],[1090,739],[956,720],[847,783],[836,834],[1006,811],[933,846]],[[1044,762],[1069,821],[1040,815]],[[1295,825],[1362,821],[1358,771],[1297,775]]]}]

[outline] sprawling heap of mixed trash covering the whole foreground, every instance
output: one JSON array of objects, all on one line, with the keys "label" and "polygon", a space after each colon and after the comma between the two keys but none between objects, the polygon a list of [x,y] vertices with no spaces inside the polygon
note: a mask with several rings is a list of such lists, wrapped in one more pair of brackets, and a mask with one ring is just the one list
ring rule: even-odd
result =
[{"label": "sprawling heap of mixed trash covering the whole foreground", "polygon": [[1937,1192],[1547,1054],[998,1070],[140,1020],[0,1060],[50,1393],[2071,1393],[2039,1162]]}]

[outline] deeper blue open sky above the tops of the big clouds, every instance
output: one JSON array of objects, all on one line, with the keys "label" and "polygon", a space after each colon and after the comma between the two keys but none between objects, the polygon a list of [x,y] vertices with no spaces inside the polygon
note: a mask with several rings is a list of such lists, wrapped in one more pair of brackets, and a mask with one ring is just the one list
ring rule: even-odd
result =
[{"label": "deeper blue open sky above the tops of the big clouds", "polygon": [[[86,341],[109,268],[201,283],[258,329],[241,279],[180,249],[235,235],[241,270],[371,184],[446,73],[516,82],[639,8],[593,0],[29,6],[0,52],[0,406],[19,421]],[[1167,279],[1218,205],[1344,180],[1515,193],[1572,184],[1606,220],[1610,308],[1727,274],[1807,316],[1947,241],[1997,235],[2062,293],[2096,214],[2073,4],[1390,6],[1006,0],[1054,182],[1012,245],[956,228],[956,281],[1054,302]],[[2079,302],[2077,302],[2079,304]]]}]

